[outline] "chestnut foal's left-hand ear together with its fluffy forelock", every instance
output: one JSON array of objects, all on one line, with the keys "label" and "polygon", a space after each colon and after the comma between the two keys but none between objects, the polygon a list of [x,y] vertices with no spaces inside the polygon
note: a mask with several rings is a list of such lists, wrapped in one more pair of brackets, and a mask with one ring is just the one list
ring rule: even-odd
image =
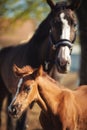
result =
[{"label": "chestnut foal's left-hand ear together with its fluffy forelock", "polygon": [[31,74],[33,72],[33,69],[30,66],[24,66],[22,68],[19,68],[17,65],[14,64],[13,72],[16,76],[25,76]]}]

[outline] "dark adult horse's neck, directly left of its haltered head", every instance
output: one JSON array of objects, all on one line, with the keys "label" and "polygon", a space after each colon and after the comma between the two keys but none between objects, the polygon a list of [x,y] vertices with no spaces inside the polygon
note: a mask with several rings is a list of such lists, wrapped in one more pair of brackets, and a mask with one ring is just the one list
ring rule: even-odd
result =
[{"label": "dark adult horse's neck, directly left of its haltered head", "polygon": [[27,42],[28,43],[27,56],[32,55],[31,58],[33,61],[33,64],[30,63],[28,64],[30,64],[32,67],[38,67],[40,66],[40,64],[44,64],[48,49],[51,15],[52,14],[50,13],[47,16],[47,18],[39,25],[31,40]]}]

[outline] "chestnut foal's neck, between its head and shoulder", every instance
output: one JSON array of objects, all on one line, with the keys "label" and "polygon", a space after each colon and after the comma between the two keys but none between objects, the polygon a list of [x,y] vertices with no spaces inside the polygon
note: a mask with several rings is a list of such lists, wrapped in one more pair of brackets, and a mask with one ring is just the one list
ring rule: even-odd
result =
[{"label": "chestnut foal's neck, between its head and shoulder", "polygon": [[[60,85],[58,86],[58,84],[46,74],[39,76],[37,78],[37,83],[39,86],[38,91],[40,98],[42,99],[47,108],[47,110],[45,111],[50,110],[52,113],[55,113],[55,108],[57,108],[56,105],[58,105],[58,97],[62,91]],[[44,106],[43,102],[40,107]],[[41,104],[41,100],[39,104]]]}]

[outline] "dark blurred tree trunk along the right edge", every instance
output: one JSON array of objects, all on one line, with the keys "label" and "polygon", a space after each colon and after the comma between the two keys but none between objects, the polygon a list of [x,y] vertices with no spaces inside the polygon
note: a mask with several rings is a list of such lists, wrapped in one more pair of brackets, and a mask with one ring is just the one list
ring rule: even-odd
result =
[{"label": "dark blurred tree trunk along the right edge", "polygon": [[87,0],[82,0],[80,8],[76,11],[79,20],[81,66],[80,84],[87,84]]}]

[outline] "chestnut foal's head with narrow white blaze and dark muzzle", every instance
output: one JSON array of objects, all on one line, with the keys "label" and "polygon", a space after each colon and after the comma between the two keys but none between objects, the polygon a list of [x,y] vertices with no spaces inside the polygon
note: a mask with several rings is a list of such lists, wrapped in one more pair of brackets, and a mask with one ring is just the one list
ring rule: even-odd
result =
[{"label": "chestnut foal's head with narrow white blaze and dark muzzle", "polygon": [[29,66],[18,68],[14,66],[14,72],[19,77],[16,94],[8,107],[9,114],[15,118],[21,116],[28,106],[33,107],[35,101],[38,100],[38,84],[35,78],[42,72],[40,69],[33,70]]}]

